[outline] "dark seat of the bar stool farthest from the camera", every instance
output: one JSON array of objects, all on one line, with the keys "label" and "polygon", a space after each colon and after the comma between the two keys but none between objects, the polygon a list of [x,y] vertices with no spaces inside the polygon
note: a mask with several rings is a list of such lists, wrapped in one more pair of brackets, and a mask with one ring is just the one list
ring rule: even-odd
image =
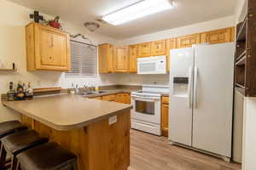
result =
[{"label": "dark seat of the bar stool farthest from the camera", "polygon": [[0,122],[0,139],[10,133],[26,129],[27,127],[22,125],[19,121]]}]

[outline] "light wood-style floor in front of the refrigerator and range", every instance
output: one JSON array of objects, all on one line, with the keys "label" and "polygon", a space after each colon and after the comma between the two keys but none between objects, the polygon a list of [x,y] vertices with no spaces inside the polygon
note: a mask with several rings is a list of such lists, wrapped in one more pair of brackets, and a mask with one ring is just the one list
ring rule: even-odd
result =
[{"label": "light wood-style floor in front of the refrigerator and range", "polygon": [[165,137],[131,130],[129,170],[241,170],[241,164],[168,144]]}]

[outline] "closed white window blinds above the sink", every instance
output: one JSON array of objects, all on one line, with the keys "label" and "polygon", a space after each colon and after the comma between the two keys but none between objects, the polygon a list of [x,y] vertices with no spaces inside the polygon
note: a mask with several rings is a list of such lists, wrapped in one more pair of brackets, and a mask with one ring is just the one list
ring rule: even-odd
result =
[{"label": "closed white window blinds above the sink", "polygon": [[71,71],[66,77],[96,77],[96,47],[71,41]]}]

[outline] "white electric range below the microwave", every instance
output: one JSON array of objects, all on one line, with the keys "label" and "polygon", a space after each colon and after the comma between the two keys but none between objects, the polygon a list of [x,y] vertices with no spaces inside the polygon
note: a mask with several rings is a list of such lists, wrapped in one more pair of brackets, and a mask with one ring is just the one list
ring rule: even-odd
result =
[{"label": "white electric range below the microwave", "polygon": [[156,135],[161,134],[161,94],[169,93],[168,86],[143,85],[143,90],[131,93],[131,128]]}]

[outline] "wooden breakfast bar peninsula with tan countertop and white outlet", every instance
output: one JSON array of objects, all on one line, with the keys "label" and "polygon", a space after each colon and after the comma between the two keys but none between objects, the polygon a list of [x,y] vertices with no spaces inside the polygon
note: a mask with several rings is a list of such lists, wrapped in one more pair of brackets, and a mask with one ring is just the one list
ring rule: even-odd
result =
[{"label": "wooden breakfast bar peninsula with tan countertop and white outlet", "polygon": [[79,170],[129,167],[131,105],[72,94],[2,102],[26,126],[73,151]]}]

